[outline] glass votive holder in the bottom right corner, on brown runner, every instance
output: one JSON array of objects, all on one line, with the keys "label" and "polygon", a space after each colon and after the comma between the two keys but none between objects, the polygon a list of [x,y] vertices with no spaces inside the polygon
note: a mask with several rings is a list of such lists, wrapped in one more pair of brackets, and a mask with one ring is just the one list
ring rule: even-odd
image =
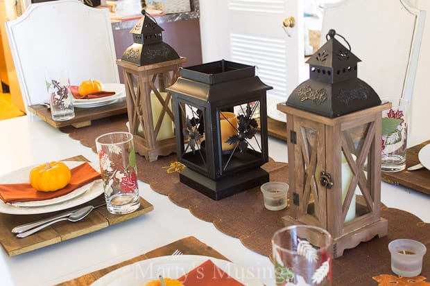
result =
[{"label": "glass votive holder in the bottom right corner, on brown runner", "polygon": [[416,240],[393,240],[388,244],[391,253],[391,270],[398,276],[418,276],[422,269],[422,257],[427,248]]}]

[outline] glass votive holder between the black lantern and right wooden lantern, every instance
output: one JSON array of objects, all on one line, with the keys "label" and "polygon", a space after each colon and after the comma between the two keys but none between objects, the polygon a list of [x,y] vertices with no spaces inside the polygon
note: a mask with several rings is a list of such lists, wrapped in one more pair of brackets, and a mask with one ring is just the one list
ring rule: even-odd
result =
[{"label": "glass votive holder between the black lantern and right wooden lantern", "polygon": [[264,206],[270,211],[279,211],[286,208],[289,188],[289,184],[283,181],[268,181],[261,185]]}]

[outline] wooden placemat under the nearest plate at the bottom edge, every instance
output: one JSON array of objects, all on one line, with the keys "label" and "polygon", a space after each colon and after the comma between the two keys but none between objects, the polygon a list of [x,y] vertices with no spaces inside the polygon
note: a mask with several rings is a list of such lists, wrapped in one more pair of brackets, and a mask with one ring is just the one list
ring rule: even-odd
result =
[{"label": "wooden placemat under the nearest plate at the bottom edge", "polygon": [[101,278],[102,276],[108,274],[111,271],[114,271],[115,269],[119,269],[123,266],[130,265],[132,263],[145,260],[148,258],[155,258],[160,256],[170,256],[173,251],[180,250],[182,254],[189,254],[189,255],[200,255],[200,256],[211,256],[218,259],[227,260],[225,256],[221,255],[218,251],[213,249],[212,247],[209,247],[207,244],[204,244],[203,242],[200,242],[197,238],[194,238],[193,236],[190,236],[188,238],[182,238],[181,240],[177,240],[175,242],[172,242],[171,244],[167,244],[164,247],[160,247],[157,249],[154,249],[153,251],[149,251],[147,253],[141,254],[140,256],[136,256],[135,258],[131,258],[130,260],[126,260],[123,262],[120,262],[116,265],[112,265],[110,267],[106,267],[103,269],[99,269],[97,271],[91,272],[89,274],[85,274],[83,276],[80,276],[78,278],[74,278],[72,280],[66,281],[65,283],[60,283],[58,285],[62,286],[87,286],[93,283],[98,278]]}]

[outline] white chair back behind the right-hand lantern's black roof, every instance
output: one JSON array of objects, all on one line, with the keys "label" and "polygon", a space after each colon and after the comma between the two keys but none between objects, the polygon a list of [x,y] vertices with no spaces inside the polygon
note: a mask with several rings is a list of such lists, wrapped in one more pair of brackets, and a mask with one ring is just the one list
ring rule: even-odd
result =
[{"label": "white chair back behind the right-hand lantern's black roof", "polygon": [[327,3],[321,43],[326,42],[325,35],[333,28],[362,60],[358,77],[370,84],[380,98],[411,100],[424,21],[425,12],[411,7],[406,0]]}]

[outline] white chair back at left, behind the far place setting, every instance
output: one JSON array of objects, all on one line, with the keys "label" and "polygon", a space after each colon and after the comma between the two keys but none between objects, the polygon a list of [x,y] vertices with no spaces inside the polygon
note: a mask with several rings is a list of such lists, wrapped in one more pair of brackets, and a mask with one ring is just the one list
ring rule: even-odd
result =
[{"label": "white chair back at left, behind the far place setting", "polygon": [[48,69],[67,69],[72,85],[89,78],[119,83],[107,9],[77,0],[34,3],[6,30],[26,109],[48,99]]}]

